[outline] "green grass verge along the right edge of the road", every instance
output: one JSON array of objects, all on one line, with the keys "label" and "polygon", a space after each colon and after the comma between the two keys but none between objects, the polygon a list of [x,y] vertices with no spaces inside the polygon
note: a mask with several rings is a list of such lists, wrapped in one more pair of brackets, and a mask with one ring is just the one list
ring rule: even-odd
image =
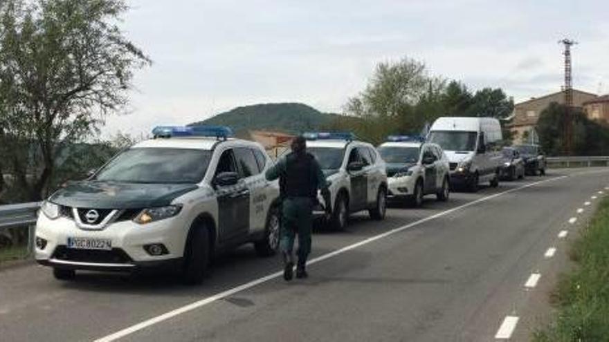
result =
[{"label": "green grass verge along the right edge of the road", "polygon": [[609,199],[572,245],[576,263],[558,282],[553,322],[534,333],[535,342],[609,341]]}]

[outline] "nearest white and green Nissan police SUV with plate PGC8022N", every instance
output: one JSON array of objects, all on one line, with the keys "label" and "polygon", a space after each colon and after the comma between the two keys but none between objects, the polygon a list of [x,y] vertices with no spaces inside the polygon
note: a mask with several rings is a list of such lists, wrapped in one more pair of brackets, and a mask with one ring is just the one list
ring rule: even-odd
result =
[{"label": "nearest white and green Nissan police SUV with plate PGC8022N", "polygon": [[271,160],[260,144],[222,126],[153,133],[44,202],[36,260],[56,278],[167,266],[200,283],[220,249],[254,243],[258,254],[275,254],[279,189],[264,178]]}]

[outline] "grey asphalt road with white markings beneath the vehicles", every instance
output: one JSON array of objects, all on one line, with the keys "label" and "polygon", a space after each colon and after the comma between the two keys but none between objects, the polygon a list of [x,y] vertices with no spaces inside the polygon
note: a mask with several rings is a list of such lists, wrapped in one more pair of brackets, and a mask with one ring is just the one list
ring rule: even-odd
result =
[{"label": "grey asphalt road with white markings beneath the vehicles", "polygon": [[221,256],[199,287],[6,269],[0,340],[527,341],[549,313],[567,240],[605,187],[609,169],[557,170],[393,208],[382,222],[356,216],[347,231],[313,236],[311,276],[291,283],[279,258],[256,258],[251,246]]}]

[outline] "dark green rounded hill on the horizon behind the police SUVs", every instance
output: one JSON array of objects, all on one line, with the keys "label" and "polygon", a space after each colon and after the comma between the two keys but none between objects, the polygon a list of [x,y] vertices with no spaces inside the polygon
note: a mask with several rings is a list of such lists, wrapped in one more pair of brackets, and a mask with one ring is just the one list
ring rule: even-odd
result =
[{"label": "dark green rounded hill on the horizon behind the police SUVs", "polygon": [[234,108],[196,124],[223,125],[233,128],[235,133],[247,130],[282,131],[302,133],[327,126],[336,114],[322,113],[311,106],[300,103],[254,104]]}]

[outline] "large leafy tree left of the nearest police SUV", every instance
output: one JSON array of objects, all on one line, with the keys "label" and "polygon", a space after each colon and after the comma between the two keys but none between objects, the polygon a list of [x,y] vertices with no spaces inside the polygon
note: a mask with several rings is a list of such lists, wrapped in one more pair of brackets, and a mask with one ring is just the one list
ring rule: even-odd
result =
[{"label": "large leafy tree left of the nearest police SUV", "polygon": [[151,61],[118,27],[123,0],[3,0],[0,146],[24,200],[46,196],[66,146],[127,104],[134,70]]}]

